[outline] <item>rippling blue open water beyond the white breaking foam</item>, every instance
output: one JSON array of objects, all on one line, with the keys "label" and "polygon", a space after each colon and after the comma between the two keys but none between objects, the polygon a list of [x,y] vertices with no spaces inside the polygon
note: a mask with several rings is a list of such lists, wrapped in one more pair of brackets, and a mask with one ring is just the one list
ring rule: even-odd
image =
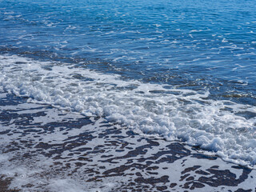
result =
[{"label": "rippling blue open water beyond the white breaking foam", "polygon": [[1,1],[0,53],[255,105],[256,2]]}]

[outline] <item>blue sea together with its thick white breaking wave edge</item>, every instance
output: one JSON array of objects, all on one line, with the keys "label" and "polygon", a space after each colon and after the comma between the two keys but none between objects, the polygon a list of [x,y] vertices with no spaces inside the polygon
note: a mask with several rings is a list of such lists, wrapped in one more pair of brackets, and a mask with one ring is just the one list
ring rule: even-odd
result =
[{"label": "blue sea together with its thick white breaking wave edge", "polygon": [[2,90],[256,162],[254,0],[0,1]]}]

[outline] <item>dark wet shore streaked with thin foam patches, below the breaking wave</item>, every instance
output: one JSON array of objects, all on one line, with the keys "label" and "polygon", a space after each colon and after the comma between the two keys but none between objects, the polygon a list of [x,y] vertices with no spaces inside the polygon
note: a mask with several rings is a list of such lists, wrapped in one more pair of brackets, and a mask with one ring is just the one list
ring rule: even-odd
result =
[{"label": "dark wet shore streaked with thin foam patches, below the breaking wave", "polygon": [[255,191],[255,170],[0,94],[0,191]]}]

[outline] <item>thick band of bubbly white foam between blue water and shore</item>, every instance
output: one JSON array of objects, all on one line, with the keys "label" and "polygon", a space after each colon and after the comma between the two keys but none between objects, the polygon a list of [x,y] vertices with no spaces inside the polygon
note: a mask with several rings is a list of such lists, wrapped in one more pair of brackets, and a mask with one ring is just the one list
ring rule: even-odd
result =
[{"label": "thick band of bubbly white foam between blue water and shore", "polygon": [[[206,99],[209,92],[124,81],[73,64],[0,56],[0,89],[87,116],[104,116],[130,129],[182,139],[242,165],[256,163],[255,106]],[[230,109],[230,110],[226,110]]]}]

